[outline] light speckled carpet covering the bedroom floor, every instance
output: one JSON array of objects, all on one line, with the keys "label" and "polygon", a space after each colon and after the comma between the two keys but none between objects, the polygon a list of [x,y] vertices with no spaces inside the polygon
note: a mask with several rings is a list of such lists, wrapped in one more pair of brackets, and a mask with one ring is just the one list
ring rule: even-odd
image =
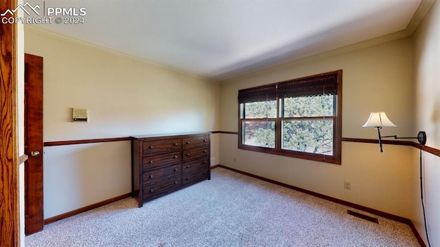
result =
[{"label": "light speckled carpet covering the bedroom floor", "polygon": [[228,169],[137,208],[133,198],[46,225],[25,246],[419,246],[406,224]]}]

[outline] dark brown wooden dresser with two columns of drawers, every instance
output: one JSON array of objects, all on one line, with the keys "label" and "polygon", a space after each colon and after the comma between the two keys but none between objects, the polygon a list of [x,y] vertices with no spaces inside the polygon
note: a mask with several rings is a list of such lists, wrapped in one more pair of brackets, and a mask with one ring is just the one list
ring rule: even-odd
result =
[{"label": "dark brown wooden dresser with two columns of drawers", "polygon": [[210,180],[207,132],[131,137],[132,194],[139,207],[148,200]]}]

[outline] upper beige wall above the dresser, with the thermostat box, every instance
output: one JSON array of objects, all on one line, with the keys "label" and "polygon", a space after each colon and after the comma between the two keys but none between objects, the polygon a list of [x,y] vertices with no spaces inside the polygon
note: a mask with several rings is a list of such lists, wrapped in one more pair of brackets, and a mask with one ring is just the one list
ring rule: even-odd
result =
[{"label": "upper beige wall above the dresser, with the thermostat box", "polygon": [[[44,141],[218,128],[215,82],[26,29],[26,52],[44,58]],[[72,108],[87,108],[87,123]]]}]

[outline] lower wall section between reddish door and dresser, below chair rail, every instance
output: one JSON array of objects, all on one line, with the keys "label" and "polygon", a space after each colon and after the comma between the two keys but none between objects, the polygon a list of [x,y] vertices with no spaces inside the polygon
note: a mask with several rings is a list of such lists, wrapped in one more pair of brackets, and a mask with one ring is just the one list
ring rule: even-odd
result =
[{"label": "lower wall section between reddish door and dresser, below chair rail", "polygon": [[45,218],[131,191],[130,141],[45,147]]}]

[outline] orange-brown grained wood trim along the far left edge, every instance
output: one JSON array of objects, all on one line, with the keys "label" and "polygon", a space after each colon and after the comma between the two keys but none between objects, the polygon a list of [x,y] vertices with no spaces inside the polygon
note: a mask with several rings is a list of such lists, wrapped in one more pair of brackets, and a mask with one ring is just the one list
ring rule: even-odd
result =
[{"label": "orange-brown grained wood trim along the far left edge", "polygon": [[[15,8],[17,0],[0,1],[0,13]],[[20,246],[16,27],[0,24],[0,246]]]}]

